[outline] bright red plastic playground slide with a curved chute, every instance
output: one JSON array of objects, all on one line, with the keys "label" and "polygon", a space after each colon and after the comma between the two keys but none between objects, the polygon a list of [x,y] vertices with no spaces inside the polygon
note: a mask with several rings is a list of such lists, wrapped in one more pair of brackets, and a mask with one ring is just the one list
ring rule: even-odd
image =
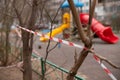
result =
[{"label": "bright red plastic playground slide with a curved chute", "polygon": [[[87,24],[89,20],[89,15],[81,13],[80,20],[82,24]],[[114,44],[119,40],[119,38],[112,32],[111,27],[105,27],[95,18],[92,19],[91,29],[105,42]]]}]

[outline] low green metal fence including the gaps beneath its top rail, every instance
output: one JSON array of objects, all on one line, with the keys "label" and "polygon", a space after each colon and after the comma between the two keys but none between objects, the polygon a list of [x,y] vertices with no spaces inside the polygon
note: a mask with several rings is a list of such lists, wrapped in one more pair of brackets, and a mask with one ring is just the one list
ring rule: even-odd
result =
[{"label": "low green metal fence including the gaps beneath its top rail", "polygon": [[[68,70],[61,68],[48,60],[46,61],[47,72],[45,73],[44,59],[34,53],[32,54],[32,57],[36,59],[34,62],[32,62],[33,71],[36,72],[40,77],[42,77],[45,74],[46,80],[65,80],[67,74],[69,73]],[[75,80],[85,79],[76,75]]]}]

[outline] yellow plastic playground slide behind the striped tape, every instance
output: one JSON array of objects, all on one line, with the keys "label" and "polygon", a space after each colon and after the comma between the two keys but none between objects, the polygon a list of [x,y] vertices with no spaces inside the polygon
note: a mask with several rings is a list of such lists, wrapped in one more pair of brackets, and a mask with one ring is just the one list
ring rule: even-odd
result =
[{"label": "yellow plastic playground slide behind the striped tape", "polygon": [[[69,28],[70,27],[70,14],[69,13],[65,13],[63,15],[63,23],[62,25],[60,25],[58,28],[53,29],[52,33],[51,33],[51,37],[54,37],[55,35],[63,32],[64,29]],[[47,36],[50,36],[50,32],[46,34]],[[45,42],[48,39],[45,37],[40,37],[40,41]]]}]

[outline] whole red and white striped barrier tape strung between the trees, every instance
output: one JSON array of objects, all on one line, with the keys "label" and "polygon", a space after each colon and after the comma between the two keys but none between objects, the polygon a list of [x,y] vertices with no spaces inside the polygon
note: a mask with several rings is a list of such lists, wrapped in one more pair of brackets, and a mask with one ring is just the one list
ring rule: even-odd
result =
[{"label": "whole red and white striped barrier tape strung between the trees", "polygon": [[[26,28],[23,28],[23,27],[20,27],[20,26],[17,26],[18,28],[22,29],[22,30],[25,30],[27,32],[30,32],[30,33],[33,33],[35,35],[38,35],[38,36],[41,36],[41,37],[45,37],[45,38],[48,38],[50,40],[53,40],[55,42],[60,42],[60,43],[63,43],[63,44],[66,44],[66,45],[69,45],[69,46],[74,46],[74,47],[77,47],[77,48],[81,48],[81,49],[84,49],[85,47],[81,46],[81,45],[78,45],[78,44],[75,44],[73,42],[69,42],[69,41],[65,41],[65,40],[62,40],[62,39],[58,39],[58,38],[55,38],[55,37],[49,37],[47,35],[44,35],[44,34],[40,34],[38,32],[34,32],[32,30],[29,30],[29,29],[26,29]],[[86,49],[86,48],[85,48]],[[94,59],[101,65],[101,67],[104,69],[104,71],[111,77],[112,80],[117,80],[114,75],[110,72],[110,70],[103,64],[100,62],[100,59],[96,56],[96,55],[93,55]]]}]

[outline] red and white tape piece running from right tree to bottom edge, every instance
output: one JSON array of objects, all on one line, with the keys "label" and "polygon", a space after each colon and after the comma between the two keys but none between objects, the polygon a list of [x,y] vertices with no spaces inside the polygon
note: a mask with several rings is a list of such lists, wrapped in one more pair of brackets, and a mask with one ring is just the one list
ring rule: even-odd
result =
[{"label": "red and white tape piece running from right tree to bottom edge", "polygon": [[112,80],[117,80],[115,76],[110,72],[110,70],[103,63],[100,62],[100,59],[96,55],[94,55],[94,59],[100,64],[100,66],[111,77]]}]

